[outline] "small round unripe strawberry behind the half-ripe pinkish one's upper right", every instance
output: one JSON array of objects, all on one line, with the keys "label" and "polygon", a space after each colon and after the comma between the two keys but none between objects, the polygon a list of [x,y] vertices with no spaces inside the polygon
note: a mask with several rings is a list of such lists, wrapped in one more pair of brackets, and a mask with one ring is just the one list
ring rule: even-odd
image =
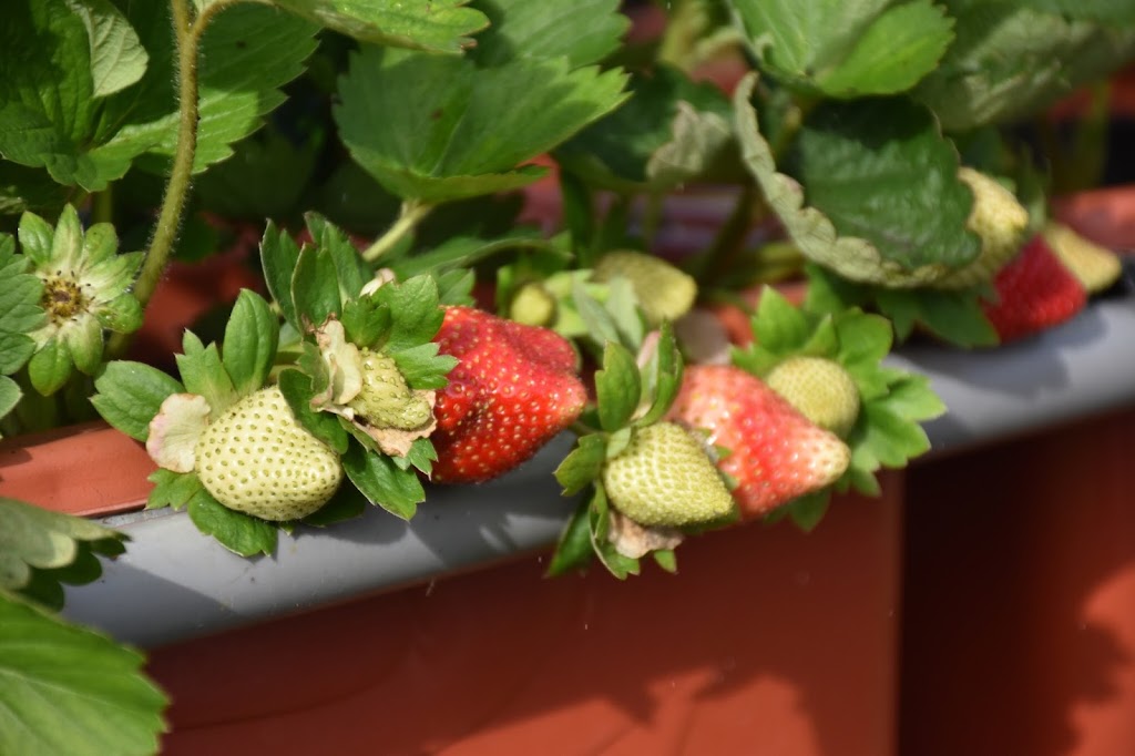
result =
[{"label": "small round unripe strawberry behind the half-ripe pinkish one's upper right", "polygon": [[859,387],[833,360],[791,356],[765,376],[765,384],[800,414],[841,438],[859,418]]}]

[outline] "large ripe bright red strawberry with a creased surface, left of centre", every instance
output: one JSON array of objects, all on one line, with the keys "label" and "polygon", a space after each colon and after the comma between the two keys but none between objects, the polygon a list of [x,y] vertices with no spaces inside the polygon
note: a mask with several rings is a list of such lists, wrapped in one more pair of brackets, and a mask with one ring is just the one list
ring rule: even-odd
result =
[{"label": "large ripe bright red strawberry with a creased surface, left of centre", "polygon": [[460,360],[437,395],[435,481],[479,482],[507,472],[583,411],[575,351],[552,330],[451,306],[434,341]]}]

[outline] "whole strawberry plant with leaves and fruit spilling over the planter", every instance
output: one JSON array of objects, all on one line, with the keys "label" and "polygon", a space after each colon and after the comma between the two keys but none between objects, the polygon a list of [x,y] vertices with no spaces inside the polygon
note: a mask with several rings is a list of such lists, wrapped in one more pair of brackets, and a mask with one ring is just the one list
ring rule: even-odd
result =
[{"label": "whole strawberry plant with leaves and fruit spilling over the planter", "polygon": [[[892,350],[1027,338],[1119,278],[1048,218],[1069,156],[1041,148],[1050,106],[1135,59],[1129,3],[9,5],[0,432],[110,423],[153,460],[149,506],[243,556],[370,506],[409,520],[562,434],[552,573],[673,571],[740,519],[819,527],[947,409]],[[712,234],[678,238],[703,186]],[[250,236],[255,285],[146,359],[175,263]],[[712,306],[754,292],[730,344]],[[51,686],[51,645],[126,682],[65,684],[51,732],[0,695],[32,725],[0,751],[152,750],[136,656],[52,613],[121,539],[3,504],[0,644],[39,645],[0,675]],[[84,729],[126,699],[117,734]]]}]

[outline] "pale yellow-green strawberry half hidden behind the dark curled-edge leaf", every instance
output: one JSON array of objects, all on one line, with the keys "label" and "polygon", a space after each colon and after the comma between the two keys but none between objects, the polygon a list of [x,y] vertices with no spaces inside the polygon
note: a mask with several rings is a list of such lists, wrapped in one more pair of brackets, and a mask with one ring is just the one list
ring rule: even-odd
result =
[{"label": "pale yellow-green strawberry half hidden behind the dark curled-edge leaf", "polygon": [[993,280],[998,270],[1020,251],[1028,229],[1028,211],[1012,192],[973,168],[959,169],[958,178],[974,193],[966,227],[981,237],[982,251],[965,268],[935,280],[935,288],[965,288]]}]

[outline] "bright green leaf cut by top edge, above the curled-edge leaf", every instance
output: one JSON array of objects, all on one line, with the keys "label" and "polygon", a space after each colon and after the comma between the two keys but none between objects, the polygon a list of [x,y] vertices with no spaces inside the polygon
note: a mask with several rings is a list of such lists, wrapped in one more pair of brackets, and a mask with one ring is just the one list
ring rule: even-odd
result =
[{"label": "bright green leaf cut by top edge, above the curled-edge leaf", "polygon": [[731,0],[760,67],[805,92],[893,94],[934,69],[953,41],[932,0]]}]

